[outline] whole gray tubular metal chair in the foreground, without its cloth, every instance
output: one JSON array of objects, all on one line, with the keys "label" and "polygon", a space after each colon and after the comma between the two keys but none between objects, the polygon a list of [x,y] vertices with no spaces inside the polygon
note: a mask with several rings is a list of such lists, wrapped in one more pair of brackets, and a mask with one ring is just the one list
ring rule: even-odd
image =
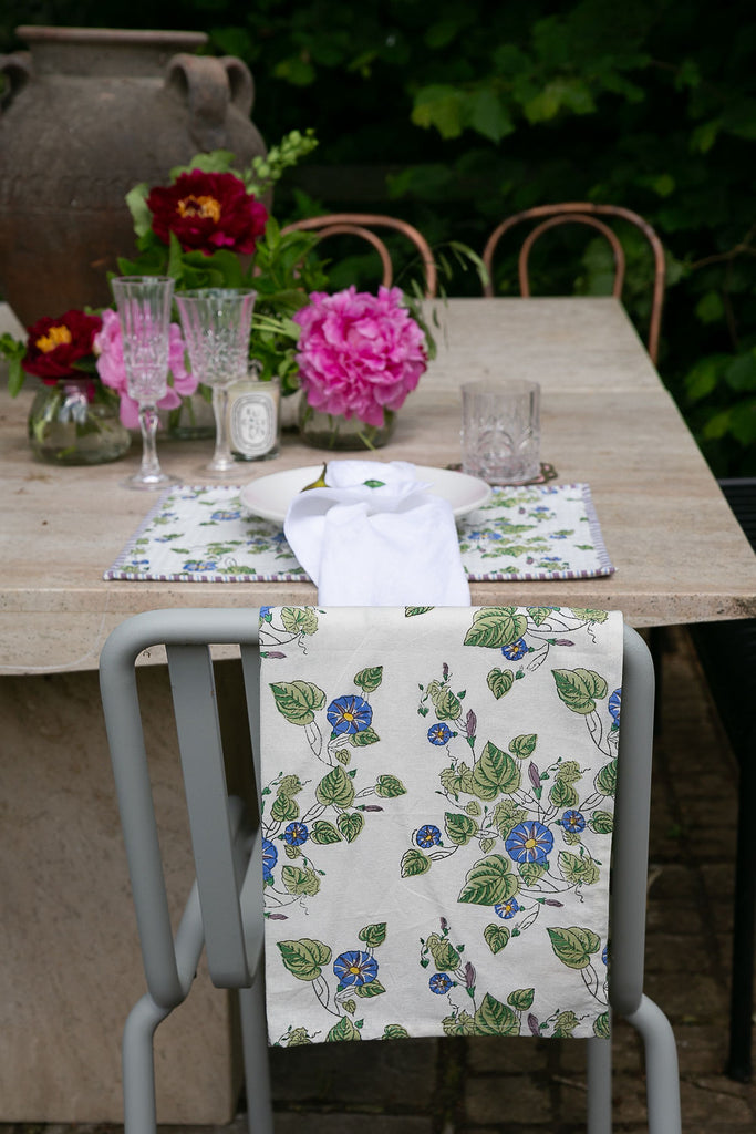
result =
[{"label": "whole gray tubular metal chair in the foreground, without its cloth", "polygon": [[[134,891],[147,993],[124,1033],[125,1134],[155,1131],[153,1036],[186,999],[203,949],[213,982],[239,989],[250,1134],[272,1134],[262,989],[261,833],[229,796],[210,644],[241,650],[246,709],[258,767],[257,610],[155,610],[119,626],[102,651],[102,703]],[[136,659],[165,645],[196,881],[173,936],[158,843]],[[652,1134],[679,1134],[677,1050],[669,1021],[643,992],[654,672],[626,627],[622,725],[612,862],[610,1004],[643,1038]],[[588,1132],[611,1131],[611,1041],[588,1050]]]}]

